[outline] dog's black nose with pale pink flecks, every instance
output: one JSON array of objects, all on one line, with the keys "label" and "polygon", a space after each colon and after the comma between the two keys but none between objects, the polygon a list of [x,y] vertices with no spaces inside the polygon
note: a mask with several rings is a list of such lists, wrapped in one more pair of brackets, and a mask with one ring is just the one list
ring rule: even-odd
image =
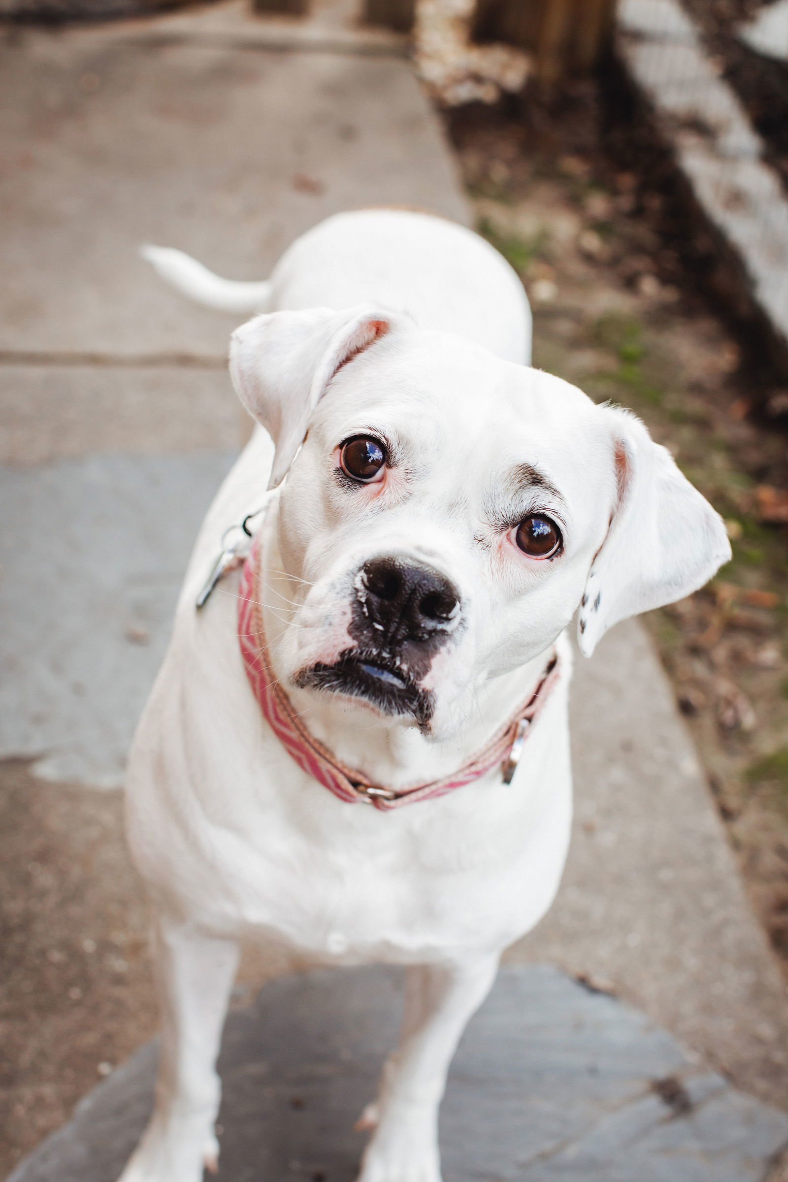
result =
[{"label": "dog's black nose with pale pink flecks", "polygon": [[445,576],[397,558],[373,558],[360,571],[359,599],[388,645],[422,641],[444,630],[460,603]]}]

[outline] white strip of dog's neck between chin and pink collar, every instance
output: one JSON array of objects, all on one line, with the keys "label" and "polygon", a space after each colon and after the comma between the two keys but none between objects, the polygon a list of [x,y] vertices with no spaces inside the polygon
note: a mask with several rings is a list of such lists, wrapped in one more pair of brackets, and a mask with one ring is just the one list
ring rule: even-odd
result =
[{"label": "white strip of dog's neck between chin and pink collar", "polygon": [[[282,574],[287,577],[276,541],[276,508],[274,501],[261,530],[259,561],[262,587],[271,585],[272,574],[275,574],[279,586]],[[298,584],[299,579],[294,578],[293,596]],[[276,652],[288,624],[266,602],[267,598],[261,596],[261,610],[271,664],[278,673]],[[483,682],[476,694],[473,716],[457,735],[444,742],[422,734],[415,722],[411,725],[400,717],[380,715],[362,699],[298,689],[285,678],[280,683],[311,734],[338,760],[370,777],[372,782],[400,788],[438,779],[462,767],[535,688],[543,673],[545,660],[540,655],[512,673]]]}]

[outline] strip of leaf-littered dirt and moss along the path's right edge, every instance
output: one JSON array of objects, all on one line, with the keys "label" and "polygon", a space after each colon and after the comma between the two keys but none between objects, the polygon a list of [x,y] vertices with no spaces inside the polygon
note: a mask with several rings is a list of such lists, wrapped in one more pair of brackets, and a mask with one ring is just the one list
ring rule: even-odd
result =
[{"label": "strip of leaf-littered dirt and moss along the path's right edge", "polygon": [[788,391],[763,389],[607,121],[586,84],[560,110],[465,109],[449,129],[477,226],[528,290],[534,364],[633,409],[725,518],[732,561],[646,623],[788,978]]}]

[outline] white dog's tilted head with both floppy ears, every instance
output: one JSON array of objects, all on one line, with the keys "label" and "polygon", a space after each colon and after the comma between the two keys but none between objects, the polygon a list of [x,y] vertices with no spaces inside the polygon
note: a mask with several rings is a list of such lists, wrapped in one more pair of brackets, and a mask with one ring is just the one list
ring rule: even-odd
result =
[{"label": "white dog's tilted head with both floppy ears", "polygon": [[287,475],[275,657],[291,686],[448,738],[578,608],[590,655],[730,557],[633,415],[403,314],[259,316],[230,370],[274,440],[272,486]]}]

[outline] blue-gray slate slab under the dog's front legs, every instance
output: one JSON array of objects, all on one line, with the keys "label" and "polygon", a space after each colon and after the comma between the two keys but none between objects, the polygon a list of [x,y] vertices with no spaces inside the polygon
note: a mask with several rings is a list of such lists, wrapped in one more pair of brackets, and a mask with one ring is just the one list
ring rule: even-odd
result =
[{"label": "blue-gray slate slab under the dog's front legs", "polygon": [[[326,970],[230,1014],[220,1178],[351,1182],[396,1038],[400,976]],[[150,1108],[146,1046],[9,1182],[113,1182]],[[461,1043],[441,1113],[447,1182],[761,1182],[788,1117],[698,1071],[643,1014],[548,966],[504,969]]]}]

